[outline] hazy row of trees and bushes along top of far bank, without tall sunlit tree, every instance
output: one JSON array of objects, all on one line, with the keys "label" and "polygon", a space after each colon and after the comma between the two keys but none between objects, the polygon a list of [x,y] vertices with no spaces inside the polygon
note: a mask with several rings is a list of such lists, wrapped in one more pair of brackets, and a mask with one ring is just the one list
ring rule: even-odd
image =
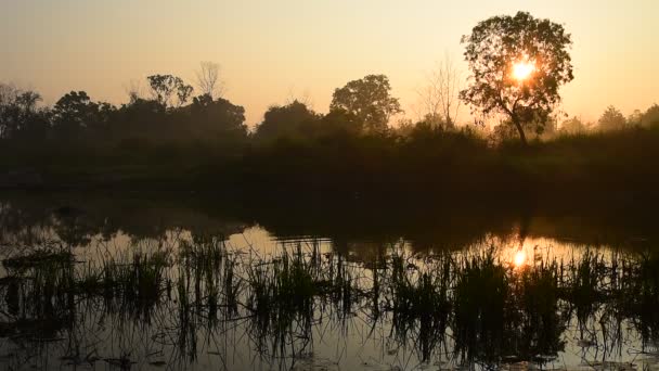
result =
[{"label": "hazy row of trees and bushes along top of far bank, without tall sunlit tree", "polygon": [[[441,131],[469,131],[491,143],[515,139],[512,123],[502,121],[492,130],[483,123],[457,129],[453,117],[430,112],[417,121],[400,119],[389,125],[391,116],[402,113],[398,99],[391,97],[386,76],[370,75],[336,89],[330,112],[325,115],[298,100],[273,105],[255,130],[245,125],[245,110],[216,97],[215,88],[194,88],[172,75],[147,77],[148,94],[129,93],[129,102],[119,106],[93,101],[85,91],[72,91],[53,106],[41,106],[37,91],[0,84],[0,140],[38,146],[47,141],[67,143],[93,141],[96,146],[144,143],[207,142],[235,150],[247,142],[271,144],[275,141],[309,141],[336,136],[413,137]],[[541,123],[527,123],[530,138],[554,138],[659,125],[659,105],[636,110],[625,117],[609,106],[596,123],[574,116],[561,123],[548,117]]]}]

